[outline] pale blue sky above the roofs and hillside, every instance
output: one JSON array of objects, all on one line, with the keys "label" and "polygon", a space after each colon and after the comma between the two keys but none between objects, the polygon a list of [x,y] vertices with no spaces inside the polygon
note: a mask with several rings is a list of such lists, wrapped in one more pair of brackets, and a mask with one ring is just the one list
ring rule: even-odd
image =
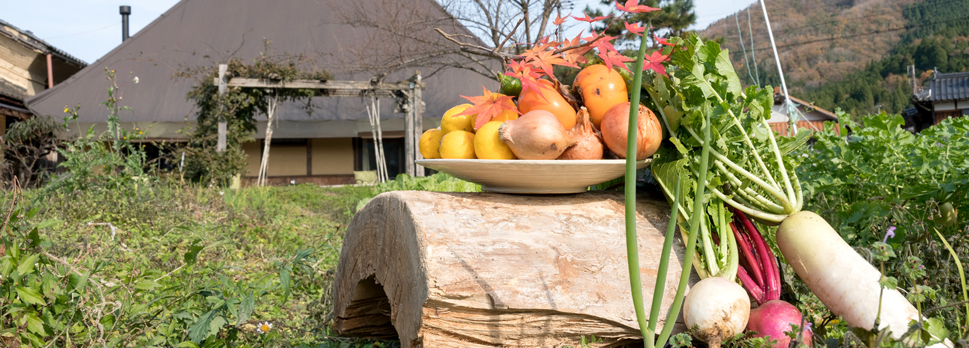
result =
[{"label": "pale blue sky above the roofs and hillside", "polygon": [[[171,8],[177,0],[0,0],[0,19],[20,30],[29,30],[81,60],[91,63],[121,43],[121,16],[118,6],[132,7],[131,34]],[[743,9],[753,0],[694,0],[695,28]],[[578,9],[598,0],[577,0]],[[578,13],[578,11],[577,11]]]}]

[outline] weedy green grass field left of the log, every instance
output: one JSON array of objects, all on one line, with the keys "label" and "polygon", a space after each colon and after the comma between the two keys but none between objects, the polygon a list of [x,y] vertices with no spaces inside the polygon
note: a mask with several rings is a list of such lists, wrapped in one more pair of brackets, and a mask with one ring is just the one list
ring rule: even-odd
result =
[{"label": "weedy green grass field left of the log", "polygon": [[[386,191],[479,190],[445,174],[338,188],[165,177],[121,187],[0,191],[0,223],[13,216],[0,225],[0,345],[393,346],[331,336],[351,218]],[[258,332],[266,322],[273,329]]]}]

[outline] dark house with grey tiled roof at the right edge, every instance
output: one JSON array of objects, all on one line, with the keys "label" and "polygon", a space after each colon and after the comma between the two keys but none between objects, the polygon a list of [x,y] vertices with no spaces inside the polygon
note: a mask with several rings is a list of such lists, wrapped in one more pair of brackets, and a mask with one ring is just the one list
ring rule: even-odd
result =
[{"label": "dark house with grey tiled roof at the right edge", "polygon": [[912,127],[913,132],[939,124],[949,117],[969,114],[969,73],[940,74],[935,71],[927,84],[927,88],[912,96],[914,110],[903,112],[906,126]]}]

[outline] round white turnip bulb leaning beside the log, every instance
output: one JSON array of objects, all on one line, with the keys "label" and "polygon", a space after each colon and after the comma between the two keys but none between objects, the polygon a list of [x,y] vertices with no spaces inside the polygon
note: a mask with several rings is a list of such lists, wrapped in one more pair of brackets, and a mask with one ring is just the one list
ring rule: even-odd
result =
[{"label": "round white turnip bulb leaning beside the log", "polygon": [[711,276],[690,288],[683,300],[683,322],[710,348],[743,332],[750,317],[747,291],[735,282]]}]

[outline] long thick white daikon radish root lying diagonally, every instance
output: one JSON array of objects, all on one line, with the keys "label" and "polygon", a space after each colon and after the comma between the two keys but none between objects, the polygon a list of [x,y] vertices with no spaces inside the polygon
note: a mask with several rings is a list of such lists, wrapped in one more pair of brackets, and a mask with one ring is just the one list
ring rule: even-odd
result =
[{"label": "long thick white daikon radish root lying diagonally", "polygon": [[[802,210],[784,219],[777,228],[777,247],[807,288],[849,325],[870,331],[878,318],[879,330],[889,328],[891,337],[900,339],[909,323],[919,320],[919,311],[898,290],[882,292],[882,273],[818,214]],[[936,346],[953,347],[953,342],[946,339]]]}]

